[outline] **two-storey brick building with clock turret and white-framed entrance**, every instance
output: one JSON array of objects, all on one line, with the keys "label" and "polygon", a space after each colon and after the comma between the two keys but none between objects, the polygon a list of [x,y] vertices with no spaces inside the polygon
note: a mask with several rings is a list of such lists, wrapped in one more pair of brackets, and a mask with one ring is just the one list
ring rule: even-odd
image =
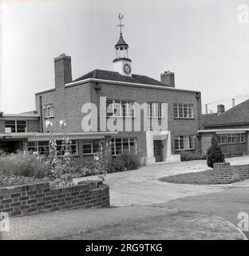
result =
[{"label": "two-storey brick building with clock turret and white-framed entrance", "polygon": [[[93,70],[74,80],[71,58],[65,54],[54,58],[55,86],[35,94],[36,111],[17,116],[3,114],[0,118],[0,149],[12,152],[18,147],[26,147],[45,152],[49,145],[49,132],[45,123],[49,120],[53,122],[59,150],[61,136],[66,130],[72,140],[75,158],[82,161],[97,151],[101,141],[111,142],[113,156],[136,150],[148,158],[148,163],[179,161],[182,150],[200,151],[200,92],[176,89],[174,73],[170,71],[161,74],[160,81],[133,74],[128,44],[122,33],[115,50],[117,55],[113,60],[113,71]],[[97,106],[96,123],[93,123],[97,130],[85,131],[81,125],[82,118],[87,114],[82,113],[82,106],[89,102]],[[122,109],[113,108],[113,113],[107,114],[108,118],[115,118],[113,122],[125,119],[132,127],[131,130],[105,129],[101,110],[112,103],[121,104]],[[135,103],[147,106],[146,110],[141,111],[140,117],[132,106]],[[166,108],[164,103],[167,103]],[[167,126],[163,130],[145,129],[144,118],[149,123],[153,119],[158,119],[160,124],[165,121]],[[18,129],[21,125],[19,120],[26,122],[25,129]],[[67,125],[61,127],[60,120],[65,120]],[[140,130],[134,128],[137,120]],[[125,128],[124,123],[121,126]]]}]

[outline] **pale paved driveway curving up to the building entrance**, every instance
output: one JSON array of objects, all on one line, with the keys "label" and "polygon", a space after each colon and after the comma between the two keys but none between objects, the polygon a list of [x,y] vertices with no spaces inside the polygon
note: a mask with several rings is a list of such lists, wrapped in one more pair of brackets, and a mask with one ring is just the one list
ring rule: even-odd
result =
[{"label": "pale paved driveway curving up to the building entrance", "polygon": [[[227,159],[231,164],[249,162],[249,157]],[[184,185],[160,182],[157,179],[174,174],[210,170],[205,160],[168,162],[144,166],[139,170],[108,174],[113,206],[148,205],[169,202],[178,198],[226,190],[227,186]]]}]

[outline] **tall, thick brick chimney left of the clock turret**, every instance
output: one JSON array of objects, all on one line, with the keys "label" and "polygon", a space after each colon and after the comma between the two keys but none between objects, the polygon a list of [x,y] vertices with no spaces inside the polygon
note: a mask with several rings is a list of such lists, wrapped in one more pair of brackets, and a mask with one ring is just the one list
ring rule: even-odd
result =
[{"label": "tall, thick brick chimney left of the clock turret", "polygon": [[54,58],[55,88],[60,89],[65,83],[72,82],[71,57],[60,54]]}]

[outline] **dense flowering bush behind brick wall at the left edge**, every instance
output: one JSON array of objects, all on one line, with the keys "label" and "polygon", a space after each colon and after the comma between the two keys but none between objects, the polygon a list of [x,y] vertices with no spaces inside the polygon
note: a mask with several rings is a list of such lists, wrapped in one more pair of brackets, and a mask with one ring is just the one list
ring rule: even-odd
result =
[{"label": "dense flowering bush behind brick wall at the left edge", "polygon": [[30,152],[0,156],[0,171],[10,176],[44,178],[49,173],[49,161]]}]

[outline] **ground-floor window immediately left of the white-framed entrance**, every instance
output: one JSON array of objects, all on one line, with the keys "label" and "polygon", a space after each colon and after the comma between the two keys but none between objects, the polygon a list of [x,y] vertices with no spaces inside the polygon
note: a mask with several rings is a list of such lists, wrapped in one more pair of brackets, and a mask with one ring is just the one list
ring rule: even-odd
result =
[{"label": "ground-floor window immediately left of the white-framed entrance", "polygon": [[125,154],[136,152],[136,138],[113,138],[112,139],[112,154]]}]

